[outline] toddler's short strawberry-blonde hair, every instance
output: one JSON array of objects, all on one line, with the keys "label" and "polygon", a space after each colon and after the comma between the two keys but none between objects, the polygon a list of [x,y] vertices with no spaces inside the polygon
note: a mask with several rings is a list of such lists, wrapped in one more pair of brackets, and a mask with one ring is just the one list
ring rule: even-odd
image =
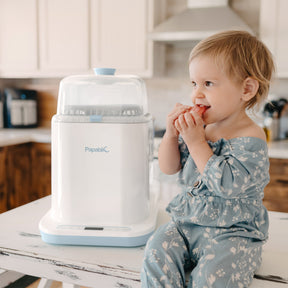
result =
[{"label": "toddler's short strawberry-blonde hair", "polygon": [[228,77],[239,83],[247,77],[258,81],[258,91],[246,103],[246,108],[260,104],[267,97],[275,67],[271,52],[255,36],[233,30],[212,35],[192,49],[189,64],[202,55],[213,58]]}]

